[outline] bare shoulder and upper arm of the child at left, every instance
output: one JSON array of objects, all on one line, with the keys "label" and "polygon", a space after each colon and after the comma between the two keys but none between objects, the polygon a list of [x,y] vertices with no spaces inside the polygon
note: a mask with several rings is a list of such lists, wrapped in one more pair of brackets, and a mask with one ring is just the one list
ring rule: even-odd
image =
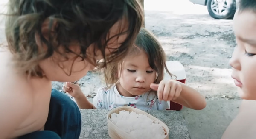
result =
[{"label": "bare shoulder and upper arm of the child at left", "polygon": [[32,95],[26,88],[26,78],[10,66],[11,53],[0,51],[0,59],[0,131],[5,131],[1,136],[8,138],[30,113]]}]

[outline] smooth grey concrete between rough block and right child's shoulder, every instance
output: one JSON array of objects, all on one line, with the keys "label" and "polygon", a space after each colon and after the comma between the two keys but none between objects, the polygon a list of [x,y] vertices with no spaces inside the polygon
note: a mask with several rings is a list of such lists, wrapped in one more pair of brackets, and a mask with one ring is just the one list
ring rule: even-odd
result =
[{"label": "smooth grey concrete between rough block and right child's shoulder", "polygon": [[207,107],[201,111],[183,108],[191,139],[221,139],[240,103],[241,100],[207,100]]}]

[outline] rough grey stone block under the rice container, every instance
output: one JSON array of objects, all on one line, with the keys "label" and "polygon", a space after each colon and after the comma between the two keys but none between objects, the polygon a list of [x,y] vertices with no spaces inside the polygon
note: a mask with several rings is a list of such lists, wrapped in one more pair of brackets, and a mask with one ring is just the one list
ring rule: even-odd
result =
[{"label": "rough grey stone block under the rice container", "polygon": [[[169,127],[169,139],[190,139],[182,112],[152,110],[148,113]],[[110,139],[107,114],[108,110],[81,110],[82,129],[79,139]]]}]

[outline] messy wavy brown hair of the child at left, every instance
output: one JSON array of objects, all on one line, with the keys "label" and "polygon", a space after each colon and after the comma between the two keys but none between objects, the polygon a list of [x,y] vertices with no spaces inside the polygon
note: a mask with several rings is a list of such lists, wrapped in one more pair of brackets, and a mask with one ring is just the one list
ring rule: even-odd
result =
[{"label": "messy wavy brown hair of the child at left", "polygon": [[[100,50],[104,57],[101,67],[107,62],[119,61],[134,43],[144,17],[137,0],[9,0],[6,18],[6,39],[17,68],[29,75],[43,77],[38,63],[53,53],[67,60],[69,53],[75,53],[69,48],[73,41],[79,42],[81,53],[75,54],[81,60],[88,60],[86,50],[96,44],[94,55]],[[108,41],[116,37],[108,37],[109,29],[121,19],[128,21],[128,29],[120,28],[116,36],[127,34],[127,38],[110,56],[105,56]],[[49,38],[41,31],[46,20],[49,20]],[[46,44],[46,50],[38,48],[35,35]],[[94,61],[96,59],[89,62],[96,66]]]}]

